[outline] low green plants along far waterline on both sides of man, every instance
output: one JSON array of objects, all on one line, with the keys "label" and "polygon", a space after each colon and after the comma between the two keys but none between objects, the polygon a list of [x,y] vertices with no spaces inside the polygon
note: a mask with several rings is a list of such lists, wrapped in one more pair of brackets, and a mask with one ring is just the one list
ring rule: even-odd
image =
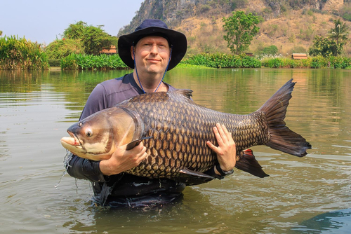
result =
[{"label": "low green plants along far waterline on both sides of man", "polygon": [[[119,55],[69,55],[60,62],[66,70],[128,69]],[[177,67],[183,68],[325,68],[351,69],[350,57],[307,57],[294,60],[288,57],[250,57],[246,55],[199,54],[187,55]],[[57,69],[54,67],[52,69]]]}]

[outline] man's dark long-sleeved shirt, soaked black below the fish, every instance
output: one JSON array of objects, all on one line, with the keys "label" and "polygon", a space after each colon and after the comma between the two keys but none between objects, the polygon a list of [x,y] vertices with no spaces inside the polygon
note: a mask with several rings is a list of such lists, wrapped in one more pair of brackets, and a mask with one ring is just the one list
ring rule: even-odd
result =
[{"label": "man's dark long-sleeved shirt, soaked black below the fish", "polygon": [[[168,91],[171,90],[176,88],[168,85]],[[133,74],[99,83],[88,97],[80,119],[142,94],[143,90],[135,83]],[[71,155],[66,165],[66,170],[72,177],[92,182],[93,200],[98,205],[138,207],[169,203],[182,197],[185,188],[183,183],[171,179],[147,179],[126,173],[108,177],[100,171],[99,163]]]}]

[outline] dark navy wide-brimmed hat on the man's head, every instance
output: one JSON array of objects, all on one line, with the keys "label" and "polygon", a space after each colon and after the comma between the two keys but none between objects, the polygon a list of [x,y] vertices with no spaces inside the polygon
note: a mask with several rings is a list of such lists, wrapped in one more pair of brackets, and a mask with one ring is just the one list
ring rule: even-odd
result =
[{"label": "dark navy wide-brimmed hat on the man's head", "polygon": [[120,36],[118,40],[118,54],[121,60],[133,69],[134,60],[131,57],[131,46],[143,37],[152,35],[164,36],[167,39],[169,46],[172,46],[168,71],[176,67],[187,52],[187,37],[181,32],[168,29],[167,25],[161,20],[144,20],[134,32]]}]

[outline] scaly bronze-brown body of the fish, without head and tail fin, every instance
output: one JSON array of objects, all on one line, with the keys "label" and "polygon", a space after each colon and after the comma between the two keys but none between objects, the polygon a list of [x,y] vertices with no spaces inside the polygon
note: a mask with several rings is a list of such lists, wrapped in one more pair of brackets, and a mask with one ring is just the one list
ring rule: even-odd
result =
[{"label": "scaly bronze-brown body of the fish, without head and tail fin", "polygon": [[[140,103],[143,103],[143,109],[140,109]],[[220,113],[194,104],[191,99],[178,93],[139,95],[117,107],[138,112],[145,126],[148,126],[145,128],[145,137],[152,137],[145,140],[149,155],[147,160],[127,171],[138,176],[178,177],[182,167],[206,172],[217,163],[216,153],[206,145],[208,140],[216,142],[213,133],[216,123],[222,123],[232,132],[237,154],[248,147],[265,144],[268,140],[267,124],[260,121],[262,113]],[[168,141],[164,141],[164,137],[161,137],[163,135],[169,136]],[[170,157],[171,152],[173,157]]]}]

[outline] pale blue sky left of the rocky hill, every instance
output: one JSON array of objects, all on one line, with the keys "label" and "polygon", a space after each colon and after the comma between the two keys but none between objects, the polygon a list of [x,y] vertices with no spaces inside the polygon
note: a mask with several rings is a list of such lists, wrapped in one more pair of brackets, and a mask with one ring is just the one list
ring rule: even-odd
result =
[{"label": "pale blue sky left of the rocky hill", "polygon": [[48,45],[79,21],[104,25],[102,29],[117,36],[128,25],[143,0],[1,0],[2,36],[15,35]]}]

